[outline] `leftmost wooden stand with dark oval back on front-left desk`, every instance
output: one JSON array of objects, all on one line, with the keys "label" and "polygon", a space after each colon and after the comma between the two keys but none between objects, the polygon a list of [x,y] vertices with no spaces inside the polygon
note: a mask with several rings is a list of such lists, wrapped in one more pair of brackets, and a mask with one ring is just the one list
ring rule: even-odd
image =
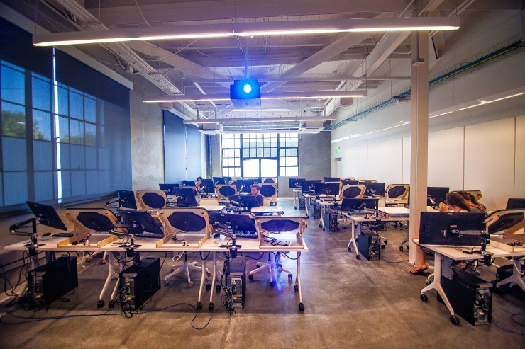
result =
[{"label": "leftmost wooden stand with dark oval back on front-left desk", "polygon": [[[113,225],[118,222],[118,218],[110,210],[70,208],[64,211],[64,217],[73,224],[73,236],[60,241],[58,247],[67,247],[67,245],[77,243],[78,248],[93,248],[94,246],[100,248],[118,239],[118,236],[109,235],[109,232],[114,229]],[[116,230],[126,232],[123,229]],[[93,236],[94,234],[99,236]],[[92,239],[92,244],[89,244],[89,238]],[[78,244],[79,241],[84,241],[84,244]]]}]

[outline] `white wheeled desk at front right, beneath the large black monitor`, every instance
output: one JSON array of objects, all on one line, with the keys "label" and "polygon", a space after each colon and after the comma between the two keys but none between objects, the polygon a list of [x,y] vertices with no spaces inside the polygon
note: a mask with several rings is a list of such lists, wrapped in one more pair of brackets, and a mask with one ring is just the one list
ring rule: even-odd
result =
[{"label": "white wheeled desk at front right, beneath the large black monitor", "polygon": [[[418,244],[418,241],[416,239],[414,239],[414,242]],[[441,296],[441,298],[443,299],[443,302],[448,308],[448,311],[451,312],[451,317],[450,317],[451,322],[457,325],[459,324],[459,319],[457,316],[455,316],[454,309],[451,305],[451,302],[448,300],[448,297],[445,291],[443,290],[443,287],[441,286],[441,276],[442,276],[441,273],[443,271],[441,270],[442,257],[446,256],[448,258],[451,258],[453,261],[473,261],[475,259],[482,259],[483,257],[480,256],[479,254],[463,253],[463,251],[460,251],[458,248],[455,248],[454,246],[436,246],[436,245],[421,245],[421,246],[429,248],[431,251],[434,251],[434,253],[436,253],[434,256],[433,282],[430,285],[424,287],[423,290],[421,290],[421,296],[420,296],[421,301],[427,302],[429,300],[429,297],[426,296],[425,292],[428,292],[430,290],[436,290],[438,294]],[[465,248],[465,246],[462,246],[462,247]],[[508,278],[506,280],[498,282],[496,286],[499,287],[509,282],[516,282],[521,287],[522,290],[525,290],[523,277],[521,276],[521,273],[519,273],[519,270],[518,270],[518,267],[521,263],[520,262],[521,258],[523,258],[523,253],[507,252],[507,251],[500,250],[499,248],[494,248],[490,245],[487,245],[487,252],[492,253],[492,258],[512,257],[514,259],[514,270],[512,273],[513,277],[511,277],[512,280],[507,281],[508,279],[510,279]]]}]

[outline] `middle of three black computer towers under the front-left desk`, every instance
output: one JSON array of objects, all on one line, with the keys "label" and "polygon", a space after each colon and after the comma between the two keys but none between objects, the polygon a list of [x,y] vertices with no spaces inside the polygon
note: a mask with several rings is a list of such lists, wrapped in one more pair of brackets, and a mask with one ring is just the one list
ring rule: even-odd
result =
[{"label": "middle of three black computer towers under the front-left desk", "polygon": [[127,304],[127,309],[136,310],[142,307],[160,289],[159,258],[144,258],[140,263],[121,271],[119,286],[121,303]]}]

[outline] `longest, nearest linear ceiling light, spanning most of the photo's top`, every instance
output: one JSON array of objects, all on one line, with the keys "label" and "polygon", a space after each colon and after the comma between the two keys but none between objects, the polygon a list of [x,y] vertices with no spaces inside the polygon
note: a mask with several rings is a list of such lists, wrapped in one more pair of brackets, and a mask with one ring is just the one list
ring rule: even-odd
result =
[{"label": "longest, nearest linear ceiling light, spanning most of the photo's top", "polygon": [[261,35],[304,35],[414,30],[457,30],[459,17],[352,18],[331,21],[279,21],[177,25],[153,28],[86,30],[33,35],[35,46],[81,45],[133,40],[176,40],[194,38],[251,37]]}]

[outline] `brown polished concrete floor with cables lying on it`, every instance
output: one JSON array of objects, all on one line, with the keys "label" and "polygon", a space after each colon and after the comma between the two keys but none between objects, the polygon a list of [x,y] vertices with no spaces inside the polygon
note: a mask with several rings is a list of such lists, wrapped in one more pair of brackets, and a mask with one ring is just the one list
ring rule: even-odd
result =
[{"label": "brown polished concrete floor with cables lying on it", "polygon": [[[282,199],[280,205],[287,214],[299,214],[292,200]],[[428,303],[419,299],[425,279],[409,274],[407,250],[398,248],[404,232],[389,229],[384,235],[389,244],[382,261],[356,260],[346,251],[350,229],[322,231],[309,219],[309,252],[302,255],[303,313],[286,273],[276,274],[273,287],[267,274],[260,273],[248,282],[245,309],[228,314],[220,307],[211,313],[206,292],[204,310],[197,314],[200,280],[193,273],[194,287],[175,278],[162,285],[143,311],[126,318],[118,308],[108,311],[108,299],[104,309],[96,308],[106,277],[98,256],[84,263],[85,269],[79,265],[79,287],[67,296],[69,302],[56,301],[48,311],[38,312],[11,307],[16,316],[3,314],[0,348],[525,348],[523,336],[499,328],[524,333],[524,316],[516,316],[521,326],[511,319],[524,313],[521,290],[494,294],[491,325],[472,326],[462,319],[453,326],[435,291],[429,292]],[[170,258],[161,277],[169,272]],[[199,254],[191,258],[197,260]],[[295,273],[294,261],[282,261]],[[255,263],[248,258],[248,270]],[[481,267],[480,272],[486,280],[495,279],[494,267]],[[221,297],[214,302],[221,306]],[[40,321],[53,316],[76,317]],[[23,324],[9,324],[13,322]]]}]

